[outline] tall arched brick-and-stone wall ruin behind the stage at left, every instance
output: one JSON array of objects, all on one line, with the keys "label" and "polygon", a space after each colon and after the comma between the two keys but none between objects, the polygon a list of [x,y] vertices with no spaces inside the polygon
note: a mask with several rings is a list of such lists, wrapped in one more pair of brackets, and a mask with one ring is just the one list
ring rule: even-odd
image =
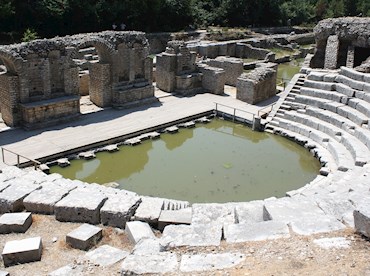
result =
[{"label": "tall arched brick-and-stone wall ruin behind the stage at left", "polygon": [[101,32],[0,47],[0,110],[9,126],[25,128],[71,120],[79,112],[78,51],[95,47],[90,99],[100,107],[153,101],[152,59],[142,32]]}]

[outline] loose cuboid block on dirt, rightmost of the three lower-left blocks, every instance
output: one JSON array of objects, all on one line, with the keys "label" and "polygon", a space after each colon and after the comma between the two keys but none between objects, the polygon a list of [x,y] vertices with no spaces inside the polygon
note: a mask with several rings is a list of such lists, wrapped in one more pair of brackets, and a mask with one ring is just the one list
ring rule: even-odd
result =
[{"label": "loose cuboid block on dirt, rightmost of the three lower-left blocks", "polygon": [[84,223],[67,234],[66,242],[73,248],[89,250],[102,236],[103,231],[100,227]]}]

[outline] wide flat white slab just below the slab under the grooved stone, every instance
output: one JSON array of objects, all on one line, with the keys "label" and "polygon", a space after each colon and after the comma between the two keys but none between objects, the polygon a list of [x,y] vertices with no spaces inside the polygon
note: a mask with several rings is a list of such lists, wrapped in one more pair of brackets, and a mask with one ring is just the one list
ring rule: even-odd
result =
[{"label": "wide flat white slab just below the slab under the grooved stone", "polygon": [[169,247],[177,246],[219,246],[222,225],[168,225],[163,230],[161,243]]}]

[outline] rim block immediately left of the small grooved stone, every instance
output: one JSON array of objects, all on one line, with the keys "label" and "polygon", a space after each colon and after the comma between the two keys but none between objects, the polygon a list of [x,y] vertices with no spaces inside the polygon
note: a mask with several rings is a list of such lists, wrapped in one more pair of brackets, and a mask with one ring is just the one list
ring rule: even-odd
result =
[{"label": "rim block immediately left of the small grooved stone", "polygon": [[135,212],[135,220],[157,224],[158,218],[163,209],[163,203],[163,198],[141,197],[141,203]]}]

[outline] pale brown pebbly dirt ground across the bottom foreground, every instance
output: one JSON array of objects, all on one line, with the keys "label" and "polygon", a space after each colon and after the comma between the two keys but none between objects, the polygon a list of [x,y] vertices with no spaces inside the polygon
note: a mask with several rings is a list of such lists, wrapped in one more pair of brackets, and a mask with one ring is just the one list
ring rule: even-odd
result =
[{"label": "pale brown pebbly dirt ground across the bottom foreground", "polygon": [[[84,260],[85,252],[73,249],[65,242],[65,236],[80,223],[62,223],[54,216],[33,215],[33,223],[24,234],[0,235],[1,248],[6,241],[41,236],[42,259],[39,262],[20,264],[4,268],[10,275],[47,275],[67,264],[84,263],[83,275],[119,275],[120,263],[102,268]],[[103,226],[101,226],[103,227]],[[131,251],[133,245],[123,230],[103,227],[103,239],[98,246],[108,244]],[[159,234],[159,233],[157,233]],[[315,239],[342,237],[350,242],[348,248],[326,249],[316,245]],[[246,256],[238,266],[203,273],[176,273],[175,275],[366,275],[370,276],[370,241],[346,229],[312,236],[292,235],[289,239],[262,242],[227,244],[218,247],[177,248],[181,254],[238,252]]]}]

